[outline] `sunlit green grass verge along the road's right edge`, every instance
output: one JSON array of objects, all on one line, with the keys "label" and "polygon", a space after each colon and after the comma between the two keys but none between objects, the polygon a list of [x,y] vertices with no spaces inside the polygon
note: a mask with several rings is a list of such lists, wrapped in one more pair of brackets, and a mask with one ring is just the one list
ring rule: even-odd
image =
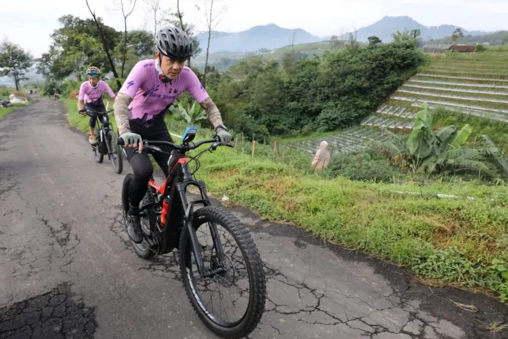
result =
[{"label": "sunlit green grass verge along the road's right edge", "polygon": [[[81,123],[75,126],[86,130]],[[266,220],[292,223],[407,267],[424,280],[508,300],[504,186],[328,179],[226,147],[205,153],[201,165],[197,177],[211,193],[226,194]],[[440,199],[436,193],[458,198]]]}]

